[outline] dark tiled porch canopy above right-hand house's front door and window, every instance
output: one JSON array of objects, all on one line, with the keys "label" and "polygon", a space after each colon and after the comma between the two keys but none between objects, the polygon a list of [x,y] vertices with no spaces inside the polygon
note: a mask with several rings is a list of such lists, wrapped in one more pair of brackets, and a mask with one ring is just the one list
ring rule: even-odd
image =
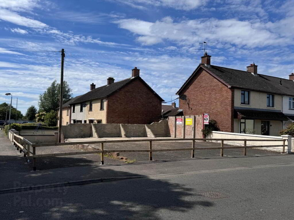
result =
[{"label": "dark tiled porch canopy above right-hand house's front door and window", "polygon": [[262,111],[255,109],[234,109],[235,119],[261,119],[261,120],[277,120],[288,121],[287,116],[280,111]]}]

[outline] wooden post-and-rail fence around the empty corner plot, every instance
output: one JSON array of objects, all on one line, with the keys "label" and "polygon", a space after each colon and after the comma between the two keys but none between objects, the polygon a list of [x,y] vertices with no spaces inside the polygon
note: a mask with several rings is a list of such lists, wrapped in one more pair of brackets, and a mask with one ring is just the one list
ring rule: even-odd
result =
[{"label": "wooden post-and-rail fence around the empty corner plot", "polygon": [[[195,157],[195,152],[197,150],[216,150],[220,149],[220,156],[223,157],[224,149],[238,149],[243,148],[243,155],[246,156],[247,148],[262,148],[262,147],[283,147],[283,152],[285,152],[285,139],[221,139],[221,138],[163,138],[163,139],[130,139],[130,140],[111,140],[111,141],[79,141],[79,142],[66,142],[66,143],[44,143],[44,144],[33,144],[25,138],[19,136],[18,132],[13,134],[13,143],[20,153],[24,153],[24,157],[28,158],[28,162],[31,158],[33,160],[33,170],[36,170],[36,159],[41,157],[56,157],[56,156],[66,156],[66,155],[79,155],[79,154],[101,154],[101,164],[104,163],[104,153],[112,152],[146,152],[149,154],[149,160],[152,160],[153,152],[165,152],[165,151],[181,151],[181,150],[191,150],[191,158]],[[104,143],[126,143],[126,142],[148,142],[149,149],[133,149],[133,150],[105,150]],[[171,148],[171,149],[153,149],[152,142],[155,141],[191,141],[191,148]],[[219,147],[195,147],[195,141],[220,141]],[[243,146],[224,146],[224,141],[243,141]],[[280,141],[283,142],[282,145],[257,145],[248,146],[248,141]],[[199,143],[199,142],[198,142]],[[77,145],[77,144],[101,144],[100,150],[92,151],[77,151],[77,152],[65,152],[65,153],[51,153],[51,154],[36,154],[36,148],[45,146],[65,146],[65,145]],[[32,151],[31,151],[32,150]]]}]

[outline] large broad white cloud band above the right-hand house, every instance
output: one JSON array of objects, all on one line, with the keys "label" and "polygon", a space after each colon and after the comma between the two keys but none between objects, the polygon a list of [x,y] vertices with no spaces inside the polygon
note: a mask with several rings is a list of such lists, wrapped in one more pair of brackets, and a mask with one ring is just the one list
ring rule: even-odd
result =
[{"label": "large broad white cloud band above the right-hand house", "polygon": [[173,22],[170,17],[154,23],[137,19],[121,19],[115,23],[118,23],[120,28],[140,35],[137,40],[143,45],[152,45],[164,40],[175,42],[178,45],[196,45],[203,39],[209,39],[218,43],[262,47],[273,44],[293,44],[291,31],[288,31],[287,34],[280,33],[281,29],[286,28],[280,27],[281,23],[290,24],[291,21],[294,21],[293,18],[268,24],[216,18],[184,19]]}]

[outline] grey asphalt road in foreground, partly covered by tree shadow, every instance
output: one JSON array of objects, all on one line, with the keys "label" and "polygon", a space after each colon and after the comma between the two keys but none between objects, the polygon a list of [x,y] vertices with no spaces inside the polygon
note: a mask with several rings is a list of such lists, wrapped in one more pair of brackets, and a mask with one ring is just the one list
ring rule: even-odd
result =
[{"label": "grey asphalt road in foreground, partly covered by tree shadow", "polygon": [[[293,164],[0,194],[1,219],[293,219]],[[211,199],[203,192],[226,198]]]}]

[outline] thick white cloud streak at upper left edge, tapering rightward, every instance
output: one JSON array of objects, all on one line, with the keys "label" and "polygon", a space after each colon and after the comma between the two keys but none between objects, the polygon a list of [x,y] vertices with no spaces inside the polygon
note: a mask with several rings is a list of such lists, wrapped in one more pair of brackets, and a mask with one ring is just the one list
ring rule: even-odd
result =
[{"label": "thick white cloud streak at upper left edge, tapering rightward", "polygon": [[30,28],[47,27],[46,24],[40,21],[20,16],[18,13],[8,11],[6,9],[0,9],[0,20],[11,22],[20,26],[30,27]]}]

